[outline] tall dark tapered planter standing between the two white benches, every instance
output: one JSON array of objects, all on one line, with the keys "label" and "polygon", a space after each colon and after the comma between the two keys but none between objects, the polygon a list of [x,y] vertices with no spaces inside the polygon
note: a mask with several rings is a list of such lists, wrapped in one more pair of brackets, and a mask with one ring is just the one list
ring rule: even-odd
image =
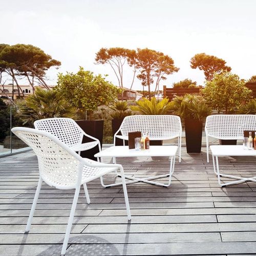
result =
[{"label": "tall dark tapered planter standing between the two white benches", "polygon": [[201,153],[203,122],[185,119],[187,153]]}]

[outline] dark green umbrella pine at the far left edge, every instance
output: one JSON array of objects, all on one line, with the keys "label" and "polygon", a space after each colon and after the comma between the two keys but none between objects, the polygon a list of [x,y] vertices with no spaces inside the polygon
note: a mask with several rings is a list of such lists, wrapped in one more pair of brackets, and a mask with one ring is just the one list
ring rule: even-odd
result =
[{"label": "dark green umbrella pine at the far left edge", "polygon": [[7,45],[2,47],[2,51],[0,47],[0,66],[14,79],[19,90],[16,76],[25,76],[33,91],[35,79],[49,90],[45,81],[46,71],[51,67],[58,68],[60,65],[60,61],[32,45]]}]

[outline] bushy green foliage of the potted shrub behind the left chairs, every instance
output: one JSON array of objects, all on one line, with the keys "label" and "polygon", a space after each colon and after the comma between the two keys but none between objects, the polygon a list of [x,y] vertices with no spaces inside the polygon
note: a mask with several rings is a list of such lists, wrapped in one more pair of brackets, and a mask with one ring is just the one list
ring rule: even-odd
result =
[{"label": "bushy green foliage of the potted shrub behind the left chairs", "polygon": [[82,67],[76,74],[60,73],[54,90],[75,106],[80,116],[84,116],[87,111],[91,115],[98,106],[114,102],[121,93],[120,89],[104,77],[94,75],[91,71],[84,71]]}]

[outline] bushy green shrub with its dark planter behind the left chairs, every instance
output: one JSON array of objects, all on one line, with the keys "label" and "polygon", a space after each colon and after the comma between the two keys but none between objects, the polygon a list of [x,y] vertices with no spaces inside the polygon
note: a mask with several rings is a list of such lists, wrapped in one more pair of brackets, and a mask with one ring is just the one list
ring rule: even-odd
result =
[{"label": "bushy green shrub with its dark planter behind the left chairs", "polygon": [[[91,120],[91,117],[98,106],[114,102],[120,89],[105,80],[105,77],[94,75],[93,72],[85,71],[80,67],[76,74],[69,72],[65,75],[58,74],[57,86],[54,90],[60,92],[71,105],[75,106],[79,126],[87,134],[99,139],[102,146],[103,120]],[[95,147],[91,151],[81,153],[81,156],[94,159],[97,152]]]}]

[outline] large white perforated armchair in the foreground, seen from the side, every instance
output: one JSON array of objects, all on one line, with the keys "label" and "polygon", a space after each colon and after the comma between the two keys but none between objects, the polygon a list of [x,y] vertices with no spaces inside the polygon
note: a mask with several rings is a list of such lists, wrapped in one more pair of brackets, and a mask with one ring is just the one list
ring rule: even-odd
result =
[{"label": "large white perforated armchair in the foreground, seen from the side", "polygon": [[81,185],[83,185],[84,191],[87,192],[87,182],[115,170],[120,170],[127,218],[131,220],[129,199],[122,165],[104,164],[82,158],[57,137],[45,131],[15,127],[12,129],[12,132],[32,148],[38,159],[39,180],[25,233],[28,233],[30,230],[42,181],[56,189],[75,189],[65,239],[61,249],[61,255],[65,255]]}]

